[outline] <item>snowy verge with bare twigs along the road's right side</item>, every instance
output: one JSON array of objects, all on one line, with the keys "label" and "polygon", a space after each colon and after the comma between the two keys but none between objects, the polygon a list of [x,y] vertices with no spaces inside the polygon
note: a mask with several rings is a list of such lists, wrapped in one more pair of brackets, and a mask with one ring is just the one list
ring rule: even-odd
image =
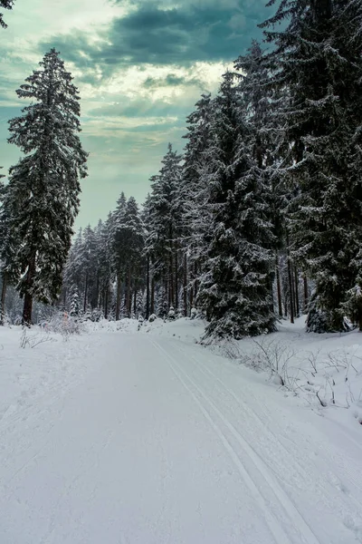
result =
[{"label": "snowy verge with bare twigs along the road's right side", "polygon": [[[304,320],[300,317],[294,325],[281,322],[279,331],[272,335],[207,345],[205,349],[265,373],[286,396],[298,397],[306,406],[348,424],[360,424],[362,432],[362,334],[306,333]],[[187,343],[200,342],[204,330],[205,323],[198,319],[166,323],[157,319],[142,327],[144,333]]]}]

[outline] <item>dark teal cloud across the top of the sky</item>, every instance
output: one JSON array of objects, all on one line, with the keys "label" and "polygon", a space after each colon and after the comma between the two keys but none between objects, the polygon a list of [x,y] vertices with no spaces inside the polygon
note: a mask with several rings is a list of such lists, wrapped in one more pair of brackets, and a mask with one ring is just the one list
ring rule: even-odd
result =
[{"label": "dark teal cloud across the top of the sky", "polygon": [[52,42],[42,40],[39,47],[43,52],[55,45],[81,69],[83,81],[97,83],[122,66],[232,61],[253,37],[261,37],[256,25],[269,15],[264,0],[138,0],[128,5],[127,12],[100,27],[96,36],[94,29],[76,30]]}]

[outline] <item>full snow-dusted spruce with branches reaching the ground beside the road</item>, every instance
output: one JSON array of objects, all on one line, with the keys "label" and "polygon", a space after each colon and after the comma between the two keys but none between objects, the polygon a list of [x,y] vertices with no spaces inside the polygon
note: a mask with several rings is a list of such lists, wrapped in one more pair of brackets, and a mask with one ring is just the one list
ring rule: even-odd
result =
[{"label": "full snow-dusted spruce with branches reaching the ground beside the road", "polygon": [[252,159],[252,129],[233,79],[224,74],[216,97],[209,151],[213,238],[197,297],[210,320],[206,337],[241,338],[275,329],[267,191],[263,170]]}]

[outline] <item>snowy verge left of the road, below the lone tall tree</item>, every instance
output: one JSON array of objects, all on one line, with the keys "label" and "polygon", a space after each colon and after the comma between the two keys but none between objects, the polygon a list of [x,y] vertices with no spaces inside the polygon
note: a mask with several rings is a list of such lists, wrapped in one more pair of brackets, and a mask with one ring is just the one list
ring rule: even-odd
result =
[{"label": "snowy verge left of the road, below the lone tall tree", "polygon": [[[59,325],[59,324],[58,324]],[[0,428],[26,419],[27,408],[52,403],[81,380],[89,349],[87,327],[54,322],[0,327]]]}]

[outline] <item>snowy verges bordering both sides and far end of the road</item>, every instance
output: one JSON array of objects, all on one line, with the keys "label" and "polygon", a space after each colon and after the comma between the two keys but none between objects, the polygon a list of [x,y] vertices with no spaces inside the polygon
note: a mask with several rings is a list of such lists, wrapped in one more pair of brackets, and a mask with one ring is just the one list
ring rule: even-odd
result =
[{"label": "snowy verges bordering both sides and far end of the road", "polygon": [[[304,318],[279,328],[273,335],[207,345],[205,352],[222,355],[220,364],[227,357],[235,371],[251,367],[284,396],[343,425],[361,425],[362,432],[362,334],[307,334]],[[54,318],[32,329],[0,327],[0,425],[81,380],[90,370],[90,335],[147,334],[195,345],[204,331],[205,322],[187,318],[142,325],[135,319],[80,324]]]}]

